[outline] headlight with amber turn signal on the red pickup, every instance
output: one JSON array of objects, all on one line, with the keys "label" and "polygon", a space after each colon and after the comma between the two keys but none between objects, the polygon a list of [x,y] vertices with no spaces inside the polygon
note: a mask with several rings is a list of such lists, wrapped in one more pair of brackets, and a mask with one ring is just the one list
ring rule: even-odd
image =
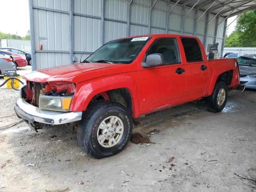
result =
[{"label": "headlight with amber turn signal on the red pickup", "polygon": [[52,111],[67,112],[73,96],[39,96],[39,108]]}]

